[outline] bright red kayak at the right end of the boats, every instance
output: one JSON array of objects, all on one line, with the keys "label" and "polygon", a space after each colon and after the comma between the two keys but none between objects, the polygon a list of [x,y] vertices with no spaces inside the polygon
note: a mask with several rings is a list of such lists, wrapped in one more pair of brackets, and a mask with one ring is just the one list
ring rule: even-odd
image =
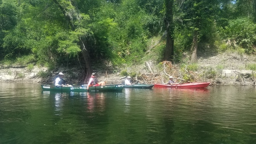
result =
[{"label": "bright red kayak at the right end of the boats", "polygon": [[177,85],[166,85],[166,84],[154,84],[154,87],[171,87],[171,88],[206,88],[211,83],[186,83],[186,84],[177,84]]}]

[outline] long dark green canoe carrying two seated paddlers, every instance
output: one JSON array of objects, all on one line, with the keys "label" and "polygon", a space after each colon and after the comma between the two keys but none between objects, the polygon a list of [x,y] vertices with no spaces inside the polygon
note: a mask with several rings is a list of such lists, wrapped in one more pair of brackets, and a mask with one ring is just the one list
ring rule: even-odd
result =
[{"label": "long dark green canoe carrying two seated paddlers", "polygon": [[54,85],[41,85],[43,90],[47,91],[73,91],[73,92],[113,92],[122,91],[124,84],[114,84],[106,86],[90,86],[87,90],[87,85],[82,86],[54,86]]}]

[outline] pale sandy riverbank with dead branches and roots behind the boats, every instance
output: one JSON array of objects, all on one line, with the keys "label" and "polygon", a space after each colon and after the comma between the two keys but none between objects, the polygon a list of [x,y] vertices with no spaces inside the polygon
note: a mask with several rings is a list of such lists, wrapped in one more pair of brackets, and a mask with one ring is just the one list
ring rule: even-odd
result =
[{"label": "pale sandy riverbank with dead branches and roots behind the boats", "polygon": [[[189,64],[184,69],[168,61],[156,63],[153,60],[136,66],[122,66],[125,68],[113,68],[111,64],[99,66],[97,63],[93,69],[96,69],[99,80],[106,81],[107,84],[123,83],[125,77],[121,73],[124,72],[133,75],[134,81],[147,84],[163,84],[168,81],[169,75],[183,79],[184,76],[189,76],[193,80],[191,82],[207,81],[220,85],[252,85],[255,80],[254,72],[247,68],[248,65],[256,63],[254,56],[226,52],[211,56],[202,53],[198,58],[196,70],[187,69]],[[184,56],[183,59],[188,58]],[[38,66],[34,66],[33,69],[28,69],[26,66],[0,66],[0,82],[53,83],[58,72],[66,73],[65,78],[70,84],[77,84],[80,82],[82,69],[81,67],[58,68],[49,72],[46,67]],[[241,77],[243,75],[247,77]]]}]

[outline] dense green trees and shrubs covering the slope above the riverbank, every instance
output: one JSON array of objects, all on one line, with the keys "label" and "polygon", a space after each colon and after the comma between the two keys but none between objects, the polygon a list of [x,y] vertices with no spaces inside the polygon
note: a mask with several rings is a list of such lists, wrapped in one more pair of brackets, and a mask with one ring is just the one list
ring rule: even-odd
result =
[{"label": "dense green trees and shrubs covering the slope above the riverbank", "polygon": [[[0,0],[0,60],[58,66],[92,60],[134,64],[165,49],[168,0]],[[191,52],[242,49],[256,53],[255,0],[175,0],[175,62]],[[67,20],[68,19],[68,20]],[[160,42],[152,46],[156,37]]]}]

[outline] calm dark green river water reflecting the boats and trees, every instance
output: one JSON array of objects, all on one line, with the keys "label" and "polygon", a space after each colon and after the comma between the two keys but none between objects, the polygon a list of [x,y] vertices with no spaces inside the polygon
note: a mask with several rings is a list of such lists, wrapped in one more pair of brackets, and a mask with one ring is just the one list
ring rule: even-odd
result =
[{"label": "calm dark green river water reflecting the boats and trees", "polygon": [[0,83],[0,144],[256,144],[256,88],[49,92]]}]

